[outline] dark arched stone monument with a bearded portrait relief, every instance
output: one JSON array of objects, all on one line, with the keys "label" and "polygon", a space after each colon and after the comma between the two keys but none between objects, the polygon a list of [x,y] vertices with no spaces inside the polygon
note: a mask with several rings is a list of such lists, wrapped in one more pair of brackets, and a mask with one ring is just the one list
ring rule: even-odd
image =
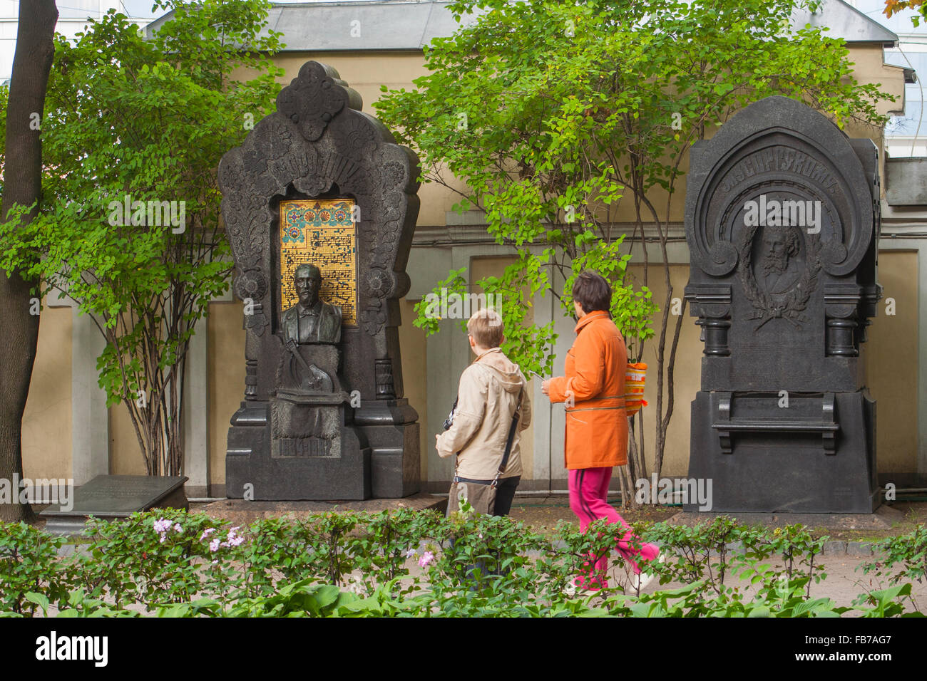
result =
[{"label": "dark arched stone monument with a bearded portrait relief", "polygon": [[876,146],[767,97],[692,148],[685,225],[705,343],[690,476],[713,479],[713,511],[871,513]]}]

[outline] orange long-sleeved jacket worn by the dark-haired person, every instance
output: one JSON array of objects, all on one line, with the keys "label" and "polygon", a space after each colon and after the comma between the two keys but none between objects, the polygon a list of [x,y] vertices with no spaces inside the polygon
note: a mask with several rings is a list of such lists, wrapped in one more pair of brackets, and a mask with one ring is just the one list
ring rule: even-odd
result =
[{"label": "orange long-sleeved jacket worn by the dark-haired person", "polygon": [[583,315],[566,353],[565,375],[551,380],[551,402],[566,405],[564,465],[568,470],[628,463],[625,339],[603,310]]}]

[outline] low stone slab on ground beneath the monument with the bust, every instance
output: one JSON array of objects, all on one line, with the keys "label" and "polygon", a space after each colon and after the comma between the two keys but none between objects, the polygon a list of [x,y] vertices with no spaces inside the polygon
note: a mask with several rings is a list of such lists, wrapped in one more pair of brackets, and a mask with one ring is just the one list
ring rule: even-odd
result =
[{"label": "low stone slab on ground beneath the monument with the bust", "polygon": [[212,501],[208,504],[194,504],[193,509],[213,518],[222,518],[222,520],[235,524],[247,524],[262,518],[278,518],[287,514],[303,517],[325,511],[377,512],[393,509],[413,509],[414,511],[433,509],[443,513],[447,505],[446,497],[434,497],[423,493],[406,498],[373,498],[363,501],[246,501],[230,498]]}]

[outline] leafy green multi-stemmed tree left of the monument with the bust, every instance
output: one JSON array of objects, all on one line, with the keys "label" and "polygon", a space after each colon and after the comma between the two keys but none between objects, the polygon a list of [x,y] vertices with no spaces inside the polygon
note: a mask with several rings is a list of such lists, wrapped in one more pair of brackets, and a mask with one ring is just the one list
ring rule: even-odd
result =
[{"label": "leafy green multi-stemmed tree left of the monument with the bust", "polygon": [[260,35],[268,7],[160,0],[172,15],[154,35],[111,11],[73,44],[57,36],[44,201],[28,227],[0,231],[0,266],[93,315],[100,385],[128,408],[150,474],[183,470],[186,352],[231,270],[215,169],[283,74],[268,59],[280,33]]}]

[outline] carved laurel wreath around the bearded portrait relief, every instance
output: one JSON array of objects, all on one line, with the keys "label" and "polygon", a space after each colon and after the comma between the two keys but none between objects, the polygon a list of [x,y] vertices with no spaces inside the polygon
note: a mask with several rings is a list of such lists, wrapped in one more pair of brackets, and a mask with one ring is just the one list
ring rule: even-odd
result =
[{"label": "carved laurel wreath around the bearded portrait relief", "polygon": [[753,271],[753,240],[758,225],[744,230],[740,240],[738,252],[740,253],[740,268],[738,276],[743,284],[743,293],[753,305],[755,314],[751,319],[762,320],[754,328],[754,333],[760,330],[767,322],[774,319],[784,319],[796,328],[806,322],[802,314],[807,308],[812,292],[818,287],[818,272],[820,271],[820,240],[816,234],[805,233],[805,271],[798,283],[783,296],[773,298],[766,291],[761,291],[756,284]]}]

